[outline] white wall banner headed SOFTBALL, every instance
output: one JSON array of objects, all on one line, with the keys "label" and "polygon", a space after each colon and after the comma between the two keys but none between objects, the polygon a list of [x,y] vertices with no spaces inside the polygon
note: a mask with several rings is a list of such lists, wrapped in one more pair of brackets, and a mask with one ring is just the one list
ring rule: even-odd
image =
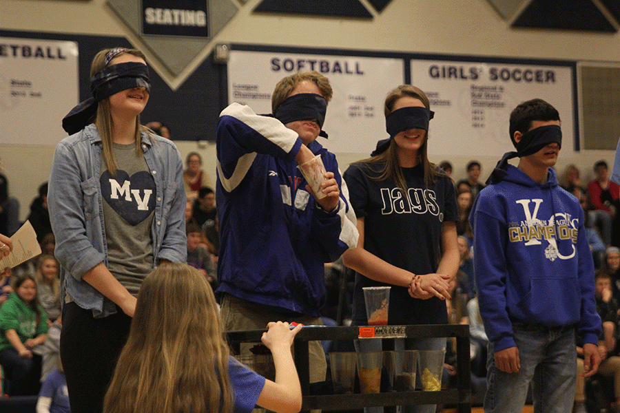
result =
[{"label": "white wall banner headed SOFTBALL", "polygon": [[402,59],[232,50],[229,103],[269,114],[278,81],[309,70],[327,76],[333,88],[323,125],[329,139],[320,138],[321,145],[335,153],[369,156],[377,141],[388,137],[383,105],[386,94],[404,82]]}]

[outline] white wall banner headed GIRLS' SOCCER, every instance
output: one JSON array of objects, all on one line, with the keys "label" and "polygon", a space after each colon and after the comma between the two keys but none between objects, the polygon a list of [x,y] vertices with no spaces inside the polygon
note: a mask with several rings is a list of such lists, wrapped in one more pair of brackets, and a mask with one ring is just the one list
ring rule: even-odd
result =
[{"label": "white wall banner headed GIRLS' SOCCER", "polygon": [[[515,59],[516,61],[516,59]],[[472,63],[411,60],[411,83],[431,100],[428,152],[502,156],[513,151],[510,112],[519,103],[541,98],[560,114],[562,149],[575,142],[574,65]],[[436,137],[436,139],[433,139]]]}]

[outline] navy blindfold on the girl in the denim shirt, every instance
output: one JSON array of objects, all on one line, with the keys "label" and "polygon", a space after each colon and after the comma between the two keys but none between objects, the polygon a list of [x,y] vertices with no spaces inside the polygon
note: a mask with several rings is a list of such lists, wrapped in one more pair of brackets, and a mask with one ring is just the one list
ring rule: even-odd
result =
[{"label": "navy blindfold on the girl in the denim shirt", "polygon": [[134,87],[144,87],[147,92],[150,91],[151,82],[147,65],[128,62],[106,67],[92,76],[90,79],[92,98],[84,100],[71,109],[71,112],[63,118],[63,129],[70,135],[76,134],[91,123],[101,100]]}]

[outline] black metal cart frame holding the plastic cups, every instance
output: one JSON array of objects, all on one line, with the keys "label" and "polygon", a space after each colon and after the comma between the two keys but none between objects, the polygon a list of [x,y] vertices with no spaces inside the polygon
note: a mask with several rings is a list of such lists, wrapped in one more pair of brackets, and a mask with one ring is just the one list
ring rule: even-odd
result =
[{"label": "black metal cart frame holding the plastic cups", "polygon": [[[382,326],[383,327],[383,326]],[[309,384],[308,341],[314,340],[353,340],[360,338],[360,326],[324,327],[307,326],[295,337],[295,365],[303,394],[302,411],[311,409],[351,410],[370,406],[422,405],[450,403],[457,405],[457,412],[471,411],[471,388],[469,369],[469,326],[452,324],[388,326],[406,337],[417,339],[431,337],[456,337],[457,342],[457,388],[438,392],[389,392],[375,394],[333,394],[311,396]],[[364,326],[366,328],[366,326]],[[378,327],[380,329],[381,327]],[[266,330],[229,331],[229,343],[238,350],[240,343],[258,342]],[[366,330],[367,331],[367,330]],[[389,348],[393,339],[384,338]]]}]

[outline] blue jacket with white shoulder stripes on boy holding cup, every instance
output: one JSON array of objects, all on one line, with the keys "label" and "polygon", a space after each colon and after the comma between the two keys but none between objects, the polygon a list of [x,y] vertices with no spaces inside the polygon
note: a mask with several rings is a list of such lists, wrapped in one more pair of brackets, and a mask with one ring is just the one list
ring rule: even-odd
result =
[{"label": "blue jacket with white shoulder stripes on boy holding cup", "polygon": [[340,185],[338,207],[324,211],[298,169],[301,145],[280,120],[245,105],[233,103],[220,114],[218,293],[318,317],[324,262],[355,246],[358,230],[333,153],[316,140],[308,145]]}]

